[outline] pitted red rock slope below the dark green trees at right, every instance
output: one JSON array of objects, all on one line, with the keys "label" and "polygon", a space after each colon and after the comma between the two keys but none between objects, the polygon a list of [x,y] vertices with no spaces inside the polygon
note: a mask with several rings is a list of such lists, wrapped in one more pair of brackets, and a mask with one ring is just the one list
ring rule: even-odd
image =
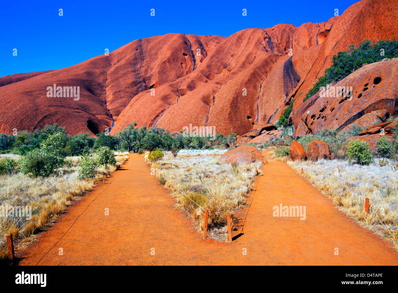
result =
[{"label": "pitted red rock slope below the dark green trees at right", "polygon": [[351,73],[332,87],[352,87],[353,96],[320,97],[320,91],[296,107],[295,137],[323,128],[350,130],[353,124],[364,128],[382,122],[398,111],[398,58],[371,63]]}]

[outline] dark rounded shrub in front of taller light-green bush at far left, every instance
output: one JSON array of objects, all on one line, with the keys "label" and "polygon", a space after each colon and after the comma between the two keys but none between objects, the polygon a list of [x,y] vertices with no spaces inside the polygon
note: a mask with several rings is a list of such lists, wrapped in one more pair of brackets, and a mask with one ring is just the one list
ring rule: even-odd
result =
[{"label": "dark rounded shrub in front of taller light-green bush at far left", "polygon": [[29,151],[21,159],[21,172],[31,177],[49,177],[54,169],[54,157],[40,149]]}]

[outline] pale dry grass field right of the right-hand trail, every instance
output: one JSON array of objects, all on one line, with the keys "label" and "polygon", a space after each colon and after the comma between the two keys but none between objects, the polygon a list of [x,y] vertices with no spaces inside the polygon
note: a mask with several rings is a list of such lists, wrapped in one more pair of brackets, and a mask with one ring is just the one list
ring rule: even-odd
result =
[{"label": "pale dry grass field right of the right-hand trail", "polygon": [[[398,249],[398,171],[380,166],[378,159],[369,166],[343,160],[289,161],[314,186],[332,199],[347,215],[392,242]],[[391,162],[392,163],[392,162]],[[365,198],[369,198],[369,214]]]}]

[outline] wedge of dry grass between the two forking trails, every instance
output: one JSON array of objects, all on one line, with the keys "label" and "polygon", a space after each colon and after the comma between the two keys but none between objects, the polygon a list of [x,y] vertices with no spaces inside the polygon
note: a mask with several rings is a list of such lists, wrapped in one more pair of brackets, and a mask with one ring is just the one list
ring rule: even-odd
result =
[{"label": "wedge of dry grass between the two forking trails", "polygon": [[[246,165],[221,164],[220,150],[181,150],[177,157],[165,153],[164,158],[153,166],[156,177],[172,189],[177,206],[183,208],[203,231],[204,212],[178,190],[203,208],[209,209],[209,236],[220,241],[228,240],[226,214],[233,214],[246,205],[261,162]],[[258,172],[260,173],[260,171]],[[160,176],[160,174],[162,176]],[[232,220],[233,223],[233,220]]]}]

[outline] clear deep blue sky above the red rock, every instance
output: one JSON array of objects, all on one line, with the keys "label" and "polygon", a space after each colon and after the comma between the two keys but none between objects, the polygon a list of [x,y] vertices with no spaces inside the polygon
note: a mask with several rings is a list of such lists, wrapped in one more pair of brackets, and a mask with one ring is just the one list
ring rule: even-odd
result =
[{"label": "clear deep blue sky above the red rock", "polygon": [[[3,1],[0,76],[72,66],[103,54],[105,48],[113,51],[135,39],[166,33],[228,37],[245,28],[325,22],[336,8],[342,14],[355,2]],[[247,16],[242,16],[244,8]]]}]

